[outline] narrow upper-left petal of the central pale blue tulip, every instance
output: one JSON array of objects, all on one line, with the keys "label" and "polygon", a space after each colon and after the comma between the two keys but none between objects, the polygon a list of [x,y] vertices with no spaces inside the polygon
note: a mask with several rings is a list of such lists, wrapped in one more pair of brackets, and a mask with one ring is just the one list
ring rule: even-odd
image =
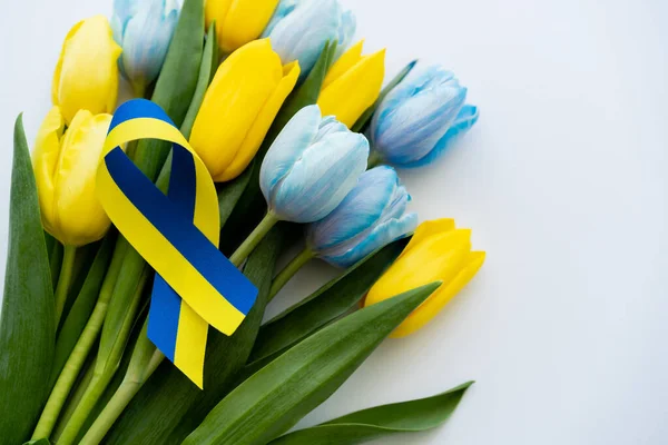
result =
[{"label": "narrow upper-left petal of the central pale blue tulip", "polygon": [[259,187],[269,202],[273,190],[292,169],[317,135],[321,110],[317,105],[302,108],[287,122],[267,150],[259,169]]}]

